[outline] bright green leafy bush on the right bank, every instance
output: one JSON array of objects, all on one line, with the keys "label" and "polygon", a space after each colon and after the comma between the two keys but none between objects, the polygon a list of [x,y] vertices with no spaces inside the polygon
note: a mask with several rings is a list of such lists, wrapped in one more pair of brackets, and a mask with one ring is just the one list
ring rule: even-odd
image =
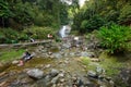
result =
[{"label": "bright green leafy bush on the right bank", "polygon": [[103,26],[98,32],[102,47],[106,48],[109,53],[121,52],[130,46],[131,28],[112,24],[110,27]]}]

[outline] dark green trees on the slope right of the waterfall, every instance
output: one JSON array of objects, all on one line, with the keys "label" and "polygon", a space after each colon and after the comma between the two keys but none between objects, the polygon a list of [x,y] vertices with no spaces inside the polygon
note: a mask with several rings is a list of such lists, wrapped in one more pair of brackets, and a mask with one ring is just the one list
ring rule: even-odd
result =
[{"label": "dark green trees on the slope right of the waterfall", "polygon": [[130,25],[131,0],[86,0],[73,22],[73,28],[81,33],[98,29],[109,23]]}]

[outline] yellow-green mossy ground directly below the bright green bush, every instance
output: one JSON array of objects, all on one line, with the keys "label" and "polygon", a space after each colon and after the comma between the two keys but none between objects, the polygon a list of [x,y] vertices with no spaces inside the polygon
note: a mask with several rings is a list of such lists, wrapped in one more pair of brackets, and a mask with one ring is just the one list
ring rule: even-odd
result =
[{"label": "yellow-green mossy ground directly below the bright green bush", "polygon": [[115,77],[119,74],[121,67],[126,66],[126,62],[121,62],[120,59],[123,59],[122,54],[121,57],[116,55],[109,55],[107,52],[103,52],[99,55],[99,59],[103,60],[99,62],[100,66],[105,69],[106,75]]}]

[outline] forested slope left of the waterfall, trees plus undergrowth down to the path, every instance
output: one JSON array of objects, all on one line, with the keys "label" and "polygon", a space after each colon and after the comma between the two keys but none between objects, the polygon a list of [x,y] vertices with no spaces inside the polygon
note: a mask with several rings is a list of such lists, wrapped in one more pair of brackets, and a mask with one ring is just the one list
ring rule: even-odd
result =
[{"label": "forested slope left of the waterfall, trees plus undergrowth down to the path", "polygon": [[61,0],[0,0],[0,44],[56,36],[71,8]]}]

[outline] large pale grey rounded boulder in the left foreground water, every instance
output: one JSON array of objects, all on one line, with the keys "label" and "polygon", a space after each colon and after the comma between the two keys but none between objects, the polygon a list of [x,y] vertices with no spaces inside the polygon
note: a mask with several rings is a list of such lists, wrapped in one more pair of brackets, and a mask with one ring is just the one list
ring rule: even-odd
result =
[{"label": "large pale grey rounded boulder in the left foreground water", "polygon": [[32,69],[32,70],[28,70],[26,73],[29,77],[33,77],[33,78],[36,78],[36,79],[39,79],[39,78],[44,77],[44,72],[40,71],[39,69]]}]

